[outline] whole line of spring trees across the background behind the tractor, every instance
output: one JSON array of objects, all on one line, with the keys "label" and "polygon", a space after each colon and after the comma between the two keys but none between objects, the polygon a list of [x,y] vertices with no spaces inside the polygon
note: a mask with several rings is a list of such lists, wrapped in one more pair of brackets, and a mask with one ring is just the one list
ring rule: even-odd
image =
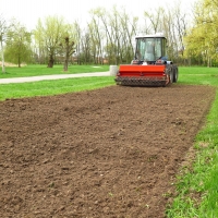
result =
[{"label": "whole line of spring trees across the background behind the tractor", "polygon": [[93,9],[89,21],[69,24],[62,16],[39,19],[33,32],[13,20],[7,25],[0,17],[2,58],[21,66],[22,62],[52,68],[69,62],[77,64],[130,63],[134,55],[134,37],[164,33],[168,39],[168,58],[178,64],[213,65],[217,60],[216,24],[218,0],[199,0],[193,19],[180,3],[146,10],[141,16],[113,7]]}]

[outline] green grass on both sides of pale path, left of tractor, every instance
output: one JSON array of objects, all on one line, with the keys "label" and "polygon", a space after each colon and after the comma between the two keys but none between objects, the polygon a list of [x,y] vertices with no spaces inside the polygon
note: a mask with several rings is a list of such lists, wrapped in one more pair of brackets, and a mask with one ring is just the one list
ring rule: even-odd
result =
[{"label": "green grass on both sides of pale path, left of tractor", "polygon": [[[109,65],[70,65],[68,72],[63,72],[62,65],[55,65],[52,69],[47,68],[46,65],[27,65],[22,68],[8,66],[5,74],[0,73],[0,80],[11,77],[76,74],[107,71],[109,71]],[[108,85],[114,85],[113,76],[64,78],[23,84],[0,84],[0,100],[4,100],[7,98],[22,98],[82,92],[100,88]]]}]

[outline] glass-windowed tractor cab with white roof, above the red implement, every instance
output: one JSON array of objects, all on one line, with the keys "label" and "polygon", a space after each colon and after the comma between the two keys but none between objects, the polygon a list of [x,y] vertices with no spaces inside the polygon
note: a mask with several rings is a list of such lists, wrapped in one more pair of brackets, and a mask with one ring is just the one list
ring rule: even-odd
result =
[{"label": "glass-windowed tractor cab with white roof, above the red implement", "polygon": [[162,35],[146,35],[135,38],[136,48],[133,64],[155,64],[159,59],[167,61],[167,39]]}]

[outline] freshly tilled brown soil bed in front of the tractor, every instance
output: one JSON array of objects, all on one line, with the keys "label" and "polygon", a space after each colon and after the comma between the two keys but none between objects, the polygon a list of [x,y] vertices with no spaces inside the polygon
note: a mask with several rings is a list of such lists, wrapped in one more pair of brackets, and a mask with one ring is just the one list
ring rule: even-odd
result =
[{"label": "freshly tilled brown soil bed in front of the tractor", "polygon": [[165,217],[214,97],[177,84],[1,101],[0,217]]}]

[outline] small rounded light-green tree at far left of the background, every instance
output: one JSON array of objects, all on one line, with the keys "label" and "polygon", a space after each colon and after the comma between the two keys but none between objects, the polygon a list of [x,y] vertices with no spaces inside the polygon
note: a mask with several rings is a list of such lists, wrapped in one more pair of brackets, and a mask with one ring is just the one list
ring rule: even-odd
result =
[{"label": "small rounded light-green tree at far left of the background", "polygon": [[21,68],[22,62],[32,60],[32,34],[21,23],[13,20],[7,35],[5,60],[16,63]]}]

